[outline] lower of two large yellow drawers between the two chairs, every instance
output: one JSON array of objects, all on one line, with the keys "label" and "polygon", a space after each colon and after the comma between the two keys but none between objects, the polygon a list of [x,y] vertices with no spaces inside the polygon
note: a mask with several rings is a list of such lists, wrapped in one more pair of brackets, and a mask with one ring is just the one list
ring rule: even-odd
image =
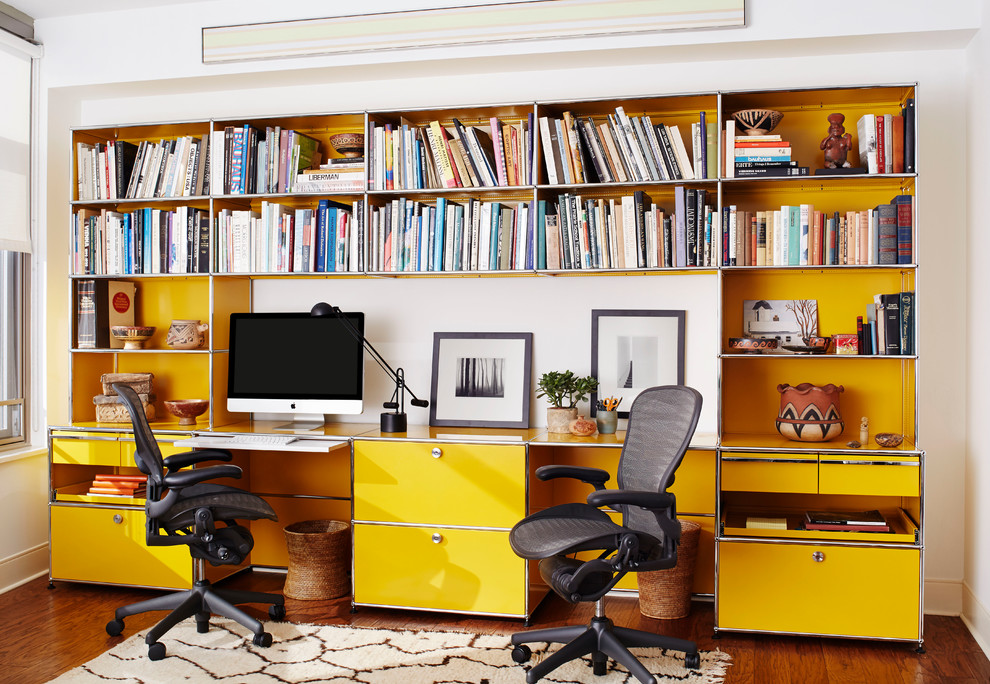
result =
[{"label": "lower of two large yellow drawers between the two chairs", "polygon": [[522,616],[527,591],[508,532],[354,525],[357,604]]}]

